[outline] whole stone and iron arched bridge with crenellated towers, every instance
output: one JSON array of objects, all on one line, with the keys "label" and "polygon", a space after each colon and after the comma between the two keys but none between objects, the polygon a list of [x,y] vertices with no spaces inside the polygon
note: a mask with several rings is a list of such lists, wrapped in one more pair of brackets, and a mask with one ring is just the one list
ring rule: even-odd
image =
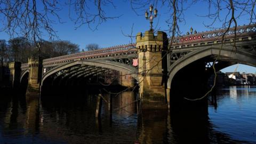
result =
[{"label": "whole stone and iron arched bridge with crenellated towers", "polygon": [[138,85],[143,109],[166,109],[179,105],[177,101],[183,98],[202,97],[209,90],[206,85],[217,58],[217,71],[237,62],[256,67],[256,25],[239,26],[236,34],[230,28],[222,39],[225,31],[171,40],[163,31],[155,35],[149,30],[138,33],[134,44],[63,55],[42,63],[34,58],[28,63],[12,62],[10,81],[17,86],[28,79],[28,89],[39,91],[45,85],[80,85],[105,77],[103,83],[113,84],[110,79],[127,87]]}]

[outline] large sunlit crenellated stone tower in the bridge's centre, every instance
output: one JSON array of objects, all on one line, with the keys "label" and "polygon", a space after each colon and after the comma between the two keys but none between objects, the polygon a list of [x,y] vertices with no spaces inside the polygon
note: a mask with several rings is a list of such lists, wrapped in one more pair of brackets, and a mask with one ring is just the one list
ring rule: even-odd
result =
[{"label": "large sunlit crenellated stone tower in the bridge's centre", "polygon": [[146,31],[136,36],[139,55],[139,85],[142,109],[166,109],[165,74],[162,63],[163,50],[167,50],[167,35]]}]

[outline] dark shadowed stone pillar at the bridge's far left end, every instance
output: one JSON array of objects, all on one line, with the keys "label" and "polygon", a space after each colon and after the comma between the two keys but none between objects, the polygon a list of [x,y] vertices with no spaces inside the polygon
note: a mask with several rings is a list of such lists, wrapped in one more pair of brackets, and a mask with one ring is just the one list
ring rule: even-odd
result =
[{"label": "dark shadowed stone pillar at the bridge's far left end", "polygon": [[10,62],[10,84],[13,89],[16,89],[20,84],[21,62]]}]

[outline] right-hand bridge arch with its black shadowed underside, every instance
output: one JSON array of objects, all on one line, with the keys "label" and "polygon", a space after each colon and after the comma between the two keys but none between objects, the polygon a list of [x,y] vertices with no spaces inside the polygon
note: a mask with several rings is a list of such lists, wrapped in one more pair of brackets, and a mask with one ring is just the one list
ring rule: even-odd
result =
[{"label": "right-hand bridge arch with its black shadowed underside", "polygon": [[[233,46],[207,47],[188,53],[177,60],[170,67],[167,88],[170,90],[170,106],[174,111],[202,110],[207,113],[207,96],[203,97],[210,89],[213,82],[209,82],[215,71],[242,63],[256,66],[254,52],[235,49]],[[219,53],[220,52],[220,53]],[[168,90],[168,89],[167,89]],[[214,91],[214,89],[213,89]]]}]

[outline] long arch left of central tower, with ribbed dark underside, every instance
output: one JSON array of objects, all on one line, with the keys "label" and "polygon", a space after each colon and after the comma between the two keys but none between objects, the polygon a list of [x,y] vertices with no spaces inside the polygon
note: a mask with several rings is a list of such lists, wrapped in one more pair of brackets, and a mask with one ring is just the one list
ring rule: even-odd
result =
[{"label": "long arch left of central tower, with ribbed dark underside", "polygon": [[136,68],[106,60],[70,62],[47,71],[42,78],[43,91],[45,87],[55,90],[75,87],[78,92],[106,86],[133,87],[136,83]]}]

